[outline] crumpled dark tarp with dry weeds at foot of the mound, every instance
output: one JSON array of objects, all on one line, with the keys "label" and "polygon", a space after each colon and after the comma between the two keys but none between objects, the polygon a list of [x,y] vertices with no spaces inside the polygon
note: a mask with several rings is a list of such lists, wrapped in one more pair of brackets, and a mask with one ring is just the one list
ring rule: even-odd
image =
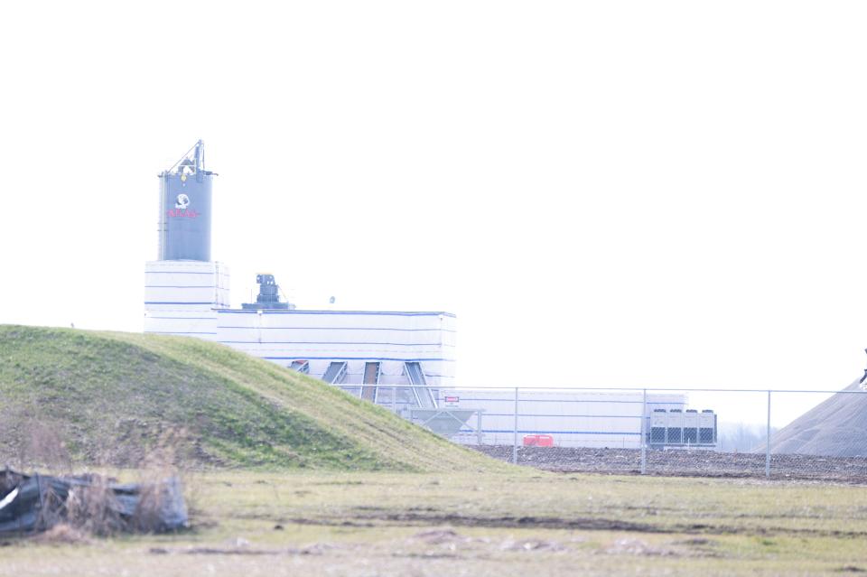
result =
[{"label": "crumpled dark tarp with dry weeds at foot of the mound", "polygon": [[45,530],[81,511],[111,518],[117,529],[128,531],[172,531],[188,521],[181,482],[174,477],[133,484],[98,475],[0,471],[0,534]]}]

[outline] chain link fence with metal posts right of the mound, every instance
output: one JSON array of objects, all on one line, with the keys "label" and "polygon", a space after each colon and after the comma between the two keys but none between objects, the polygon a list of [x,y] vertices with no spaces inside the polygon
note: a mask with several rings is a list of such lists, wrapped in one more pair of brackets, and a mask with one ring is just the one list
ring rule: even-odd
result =
[{"label": "chain link fence with metal posts right of the mound", "polygon": [[[867,391],[859,383],[843,391],[379,388],[379,405],[519,465],[867,482]],[[420,388],[432,389],[435,407],[413,406],[407,391]]]}]

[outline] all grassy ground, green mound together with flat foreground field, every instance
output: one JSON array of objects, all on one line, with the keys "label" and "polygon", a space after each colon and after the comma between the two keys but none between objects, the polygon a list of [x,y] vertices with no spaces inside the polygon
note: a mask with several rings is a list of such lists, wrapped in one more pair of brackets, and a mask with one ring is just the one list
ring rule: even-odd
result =
[{"label": "all grassy ground, green mound together with flat foreground field", "polygon": [[862,486],[516,468],[200,340],[0,326],[0,399],[0,461],[135,468],[163,443],[192,513],[5,538],[0,575],[867,572]]}]

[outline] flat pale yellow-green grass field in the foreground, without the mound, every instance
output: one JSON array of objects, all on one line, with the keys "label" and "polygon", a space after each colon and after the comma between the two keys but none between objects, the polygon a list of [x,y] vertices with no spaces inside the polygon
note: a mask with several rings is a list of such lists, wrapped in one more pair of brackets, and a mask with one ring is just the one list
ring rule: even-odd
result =
[{"label": "flat pale yellow-green grass field in the foreground, without the mound", "polygon": [[863,487],[511,473],[188,477],[180,535],[12,540],[0,575],[867,571]]}]

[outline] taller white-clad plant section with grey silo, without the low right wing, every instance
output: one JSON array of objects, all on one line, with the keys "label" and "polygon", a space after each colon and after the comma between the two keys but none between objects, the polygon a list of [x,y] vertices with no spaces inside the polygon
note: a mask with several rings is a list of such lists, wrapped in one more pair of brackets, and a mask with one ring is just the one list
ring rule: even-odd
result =
[{"label": "taller white-clad plant section with grey silo, without the low right wing", "polygon": [[[256,302],[230,306],[228,266],[210,260],[214,172],[195,144],[160,173],[158,259],[144,266],[144,332],[214,340],[340,384],[453,386],[455,316],[450,312],[302,311],[281,302],[259,275]],[[429,389],[407,405],[433,408]],[[404,403],[402,403],[404,404]]]}]

